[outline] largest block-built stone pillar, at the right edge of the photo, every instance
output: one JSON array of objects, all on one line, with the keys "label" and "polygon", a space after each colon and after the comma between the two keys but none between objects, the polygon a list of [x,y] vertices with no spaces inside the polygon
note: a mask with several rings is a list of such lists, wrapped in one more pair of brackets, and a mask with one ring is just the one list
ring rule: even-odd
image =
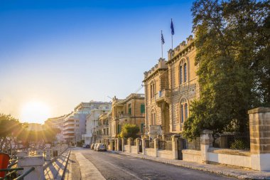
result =
[{"label": "largest block-built stone pillar, at the right edge of the photo", "polygon": [[270,107],[249,110],[252,169],[270,171]]}]

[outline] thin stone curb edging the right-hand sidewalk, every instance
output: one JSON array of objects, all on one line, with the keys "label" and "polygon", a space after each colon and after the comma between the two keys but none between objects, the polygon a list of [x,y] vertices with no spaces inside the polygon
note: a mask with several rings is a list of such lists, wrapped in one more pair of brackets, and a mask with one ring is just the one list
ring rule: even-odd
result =
[{"label": "thin stone curb edging the right-hand sidewalk", "polygon": [[160,162],[160,163],[163,163],[163,164],[171,164],[173,166],[182,166],[182,167],[185,167],[185,168],[188,168],[188,169],[195,169],[195,170],[199,170],[199,171],[205,171],[205,172],[208,172],[208,173],[212,173],[212,174],[217,174],[217,175],[223,175],[223,176],[231,176],[231,177],[235,177],[237,179],[244,179],[244,180],[266,180],[266,179],[270,179],[270,176],[249,176],[247,174],[237,174],[235,172],[229,172],[229,171],[213,171],[211,169],[207,169],[207,168],[204,168],[204,167],[195,167],[195,166],[192,166],[192,165],[188,165],[188,164],[175,164],[173,162],[170,162],[169,159],[168,161],[167,160],[161,160],[161,159],[152,159],[150,157],[146,157],[146,155],[144,155],[144,157],[141,157],[141,156],[136,156],[136,155],[132,155],[132,154],[127,154],[127,153],[123,153],[123,152],[116,152],[116,151],[107,151],[109,153],[113,153],[113,154],[124,154],[126,156],[131,156],[131,157],[138,157],[138,158],[141,158],[141,159],[147,159],[147,160],[150,160],[152,162]]}]

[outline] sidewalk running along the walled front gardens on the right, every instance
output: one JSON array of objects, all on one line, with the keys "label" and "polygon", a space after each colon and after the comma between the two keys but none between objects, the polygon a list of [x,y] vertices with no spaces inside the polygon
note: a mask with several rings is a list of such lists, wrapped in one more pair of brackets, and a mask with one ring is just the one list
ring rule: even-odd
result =
[{"label": "sidewalk running along the walled front gardens on the right", "polygon": [[225,166],[222,164],[198,164],[195,162],[184,162],[178,159],[164,159],[161,157],[149,157],[143,154],[131,154],[127,152],[109,151],[111,153],[125,154],[131,157],[139,157],[142,159],[148,159],[155,162],[161,162],[165,164],[172,164],[175,166],[183,166],[189,169],[197,169],[200,171],[207,171],[214,174],[221,174],[225,176],[233,176],[238,179],[270,179],[270,172],[254,171],[250,169],[242,169],[235,166]]}]

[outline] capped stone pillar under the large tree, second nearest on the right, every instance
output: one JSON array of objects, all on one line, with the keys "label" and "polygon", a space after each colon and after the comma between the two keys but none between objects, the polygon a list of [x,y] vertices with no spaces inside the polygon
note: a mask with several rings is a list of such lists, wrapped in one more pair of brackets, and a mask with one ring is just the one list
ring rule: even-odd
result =
[{"label": "capped stone pillar under the large tree, second nearest on the right", "polygon": [[202,163],[208,162],[208,149],[210,147],[210,134],[212,131],[210,130],[203,130],[202,134],[200,134],[200,152],[202,153]]}]

